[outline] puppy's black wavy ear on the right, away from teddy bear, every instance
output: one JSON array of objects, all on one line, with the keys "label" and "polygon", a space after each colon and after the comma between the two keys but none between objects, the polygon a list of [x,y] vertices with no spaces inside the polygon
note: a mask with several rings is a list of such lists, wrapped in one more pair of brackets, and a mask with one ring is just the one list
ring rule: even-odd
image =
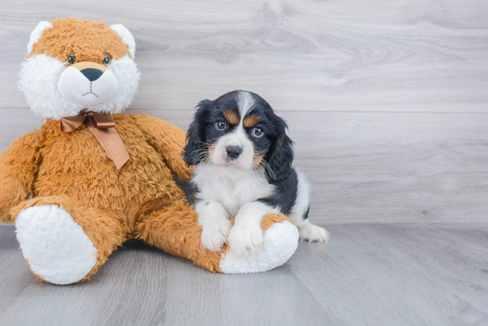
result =
[{"label": "puppy's black wavy ear on the right, away from teddy bear", "polygon": [[293,141],[286,135],[286,122],[280,117],[277,118],[275,126],[278,138],[266,155],[266,162],[269,165],[265,168],[266,177],[271,182],[286,179],[290,175],[294,156]]}]

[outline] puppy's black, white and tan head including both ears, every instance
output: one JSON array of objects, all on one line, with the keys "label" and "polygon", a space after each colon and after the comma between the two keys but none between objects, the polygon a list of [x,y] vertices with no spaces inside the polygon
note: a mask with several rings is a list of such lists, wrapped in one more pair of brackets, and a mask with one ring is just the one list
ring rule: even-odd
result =
[{"label": "puppy's black, white and tan head including both ears", "polygon": [[198,104],[183,158],[189,166],[205,161],[244,171],[262,169],[268,180],[282,180],[293,162],[286,129],[286,122],[259,95],[230,92]]}]

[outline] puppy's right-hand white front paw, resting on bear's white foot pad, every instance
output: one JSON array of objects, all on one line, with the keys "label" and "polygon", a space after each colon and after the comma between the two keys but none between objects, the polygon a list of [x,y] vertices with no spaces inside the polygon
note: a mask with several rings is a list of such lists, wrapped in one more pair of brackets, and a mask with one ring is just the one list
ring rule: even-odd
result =
[{"label": "puppy's right-hand white front paw, resting on bear's white foot pad", "polygon": [[234,225],[227,238],[229,250],[244,258],[261,245],[263,233],[259,224]]}]

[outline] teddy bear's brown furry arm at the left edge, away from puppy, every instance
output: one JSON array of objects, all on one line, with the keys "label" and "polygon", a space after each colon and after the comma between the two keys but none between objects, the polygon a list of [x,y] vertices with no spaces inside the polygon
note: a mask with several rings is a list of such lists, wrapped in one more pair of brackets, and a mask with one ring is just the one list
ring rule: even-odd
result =
[{"label": "teddy bear's brown furry arm at the left edge, away from puppy", "polygon": [[10,209],[32,195],[40,144],[40,132],[28,132],[0,155],[0,221],[13,222]]}]

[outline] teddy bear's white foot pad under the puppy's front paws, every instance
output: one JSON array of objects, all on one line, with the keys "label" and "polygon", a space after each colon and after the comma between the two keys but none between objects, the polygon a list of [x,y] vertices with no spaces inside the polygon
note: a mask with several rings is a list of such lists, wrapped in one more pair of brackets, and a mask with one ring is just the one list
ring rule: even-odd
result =
[{"label": "teddy bear's white foot pad under the puppy's front paws", "polygon": [[231,252],[220,261],[220,269],[226,274],[257,273],[283,265],[298,247],[298,229],[285,220],[275,223],[264,232],[261,246],[246,258],[239,259]]}]

